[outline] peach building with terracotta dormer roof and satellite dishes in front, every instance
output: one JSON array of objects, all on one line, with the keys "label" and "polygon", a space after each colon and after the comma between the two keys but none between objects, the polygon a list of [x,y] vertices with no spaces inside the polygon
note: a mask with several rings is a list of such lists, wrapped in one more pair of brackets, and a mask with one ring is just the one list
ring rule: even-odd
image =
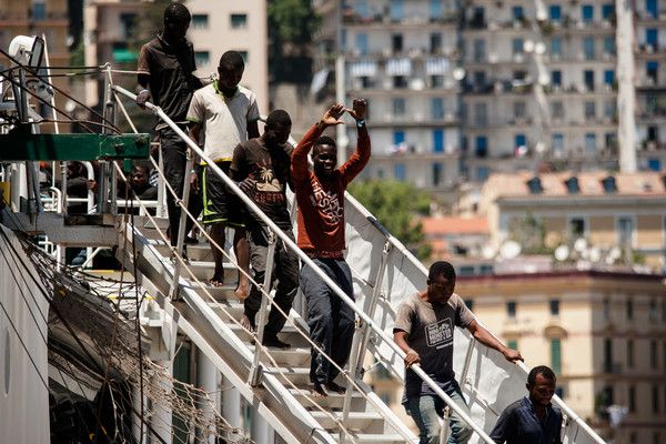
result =
[{"label": "peach building with terracotta dormer roof and satellite dishes in front", "polygon": [[579,243],[578,253],[583,260],[642,262],[662,272],[666,266],[665,186],[663,173],[657,172],[495,173],[483,185],[477,206],[487,216],[490,243],[495,249],[508,240],[521,242],[532,231],[538,236],[536,250],[566,245],[573,253],[574,242],[582,238],[585,245]]}]

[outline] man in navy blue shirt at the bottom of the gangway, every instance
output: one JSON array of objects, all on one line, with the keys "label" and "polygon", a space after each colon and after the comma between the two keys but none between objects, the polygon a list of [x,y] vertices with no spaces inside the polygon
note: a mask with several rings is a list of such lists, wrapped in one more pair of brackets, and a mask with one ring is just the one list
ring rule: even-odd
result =
[{"label": "man in navy blue shirt at the bottom of the gangway", "polygon": [[497,444],[562,444],[562,412],[551,404],[555,373],[538,365],[527,375],[529,396],[507,406],[491,437]]}]

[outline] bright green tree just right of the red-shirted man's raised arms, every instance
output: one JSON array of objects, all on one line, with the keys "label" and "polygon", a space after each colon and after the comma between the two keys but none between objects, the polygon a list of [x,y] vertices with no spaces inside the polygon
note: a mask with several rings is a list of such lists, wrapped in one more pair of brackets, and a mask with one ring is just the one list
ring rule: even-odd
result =
[{"label": "bright green tree just right of the red-shirted man's raised arms", "polygon": [[430,212],[427,193],[410,183],[376,179],[352,183],[350,193],[418,259],[430,256],[431,246],[415,219]]}]

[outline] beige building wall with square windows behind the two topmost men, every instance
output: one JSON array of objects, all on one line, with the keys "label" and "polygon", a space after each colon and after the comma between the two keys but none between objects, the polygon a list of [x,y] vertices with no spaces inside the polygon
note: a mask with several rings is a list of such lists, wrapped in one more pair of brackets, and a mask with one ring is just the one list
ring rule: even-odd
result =
[{"label": "beige building wall with square windows behind the two topmost men", "polygon": [[194,44],[198,59],[195,74],[208,77],[216,72],[220,57],[225,51],[240,51],[246,56],[241,84],[254,91],[261,113],[268,113],[266,1],[189,0],[185,4],[192,13],[188,38]]}]

